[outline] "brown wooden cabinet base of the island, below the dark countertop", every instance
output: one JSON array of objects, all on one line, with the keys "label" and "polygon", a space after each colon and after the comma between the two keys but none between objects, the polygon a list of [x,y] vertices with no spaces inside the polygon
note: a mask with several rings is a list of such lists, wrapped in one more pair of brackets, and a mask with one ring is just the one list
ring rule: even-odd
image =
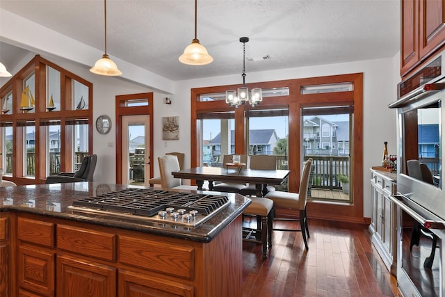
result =
[{"label": "brown wooden cabinet base of the island, below the dark countertop", "polygon": [[209,243],[31,214],[16,230],[17,296],[242,295],[241,216]]}]

